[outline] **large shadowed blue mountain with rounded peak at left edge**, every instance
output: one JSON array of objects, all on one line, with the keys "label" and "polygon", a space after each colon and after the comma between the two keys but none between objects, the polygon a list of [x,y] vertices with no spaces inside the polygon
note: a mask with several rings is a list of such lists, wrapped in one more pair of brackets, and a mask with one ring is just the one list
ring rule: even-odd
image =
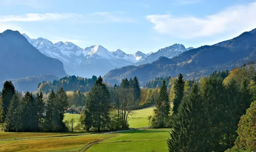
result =
[{"label": "large shadowed blue mountain with rounded peak at left edge", "polygon": [[0,33],[0,81],[46,74],[65,76],[63,63],[39,52],[18,31]]}]

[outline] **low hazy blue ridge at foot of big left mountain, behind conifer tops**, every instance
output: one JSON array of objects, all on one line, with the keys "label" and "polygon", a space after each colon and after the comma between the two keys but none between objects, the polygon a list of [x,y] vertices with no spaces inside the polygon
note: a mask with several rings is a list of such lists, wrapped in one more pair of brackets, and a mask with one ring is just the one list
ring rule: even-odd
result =
[{"label": "low hazy blue ridge at foot of big left mountain, behind conifer tops", "polygon": [[[19,79],[11,79],[15,89],[17,91],[29,91],[35,92],[38,88],[38,83],[43,81],[53,81],[58,80],[59,78],[55,75],[38,75],[38,76],[30,76],[30,77],[23,77]],[[3,82],[0,82],[0,89],[2,89]]]}]

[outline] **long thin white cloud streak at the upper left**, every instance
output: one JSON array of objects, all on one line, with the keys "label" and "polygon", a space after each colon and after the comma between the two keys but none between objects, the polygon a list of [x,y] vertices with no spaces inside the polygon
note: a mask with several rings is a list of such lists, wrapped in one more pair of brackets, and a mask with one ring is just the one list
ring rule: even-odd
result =
[{"label": "long thin white cloud streak at the upper left", "polygon": [[21,22],[29,22],[29,21],[43,21],[43,20],[62,20],[68,18],[76,18],[81,17],[79,14],[73,13],[45,13],[45,14],[23,14],[23,15],[5,15],[0,16],[0,22],[12,22],[12,21],[21,21]]}]

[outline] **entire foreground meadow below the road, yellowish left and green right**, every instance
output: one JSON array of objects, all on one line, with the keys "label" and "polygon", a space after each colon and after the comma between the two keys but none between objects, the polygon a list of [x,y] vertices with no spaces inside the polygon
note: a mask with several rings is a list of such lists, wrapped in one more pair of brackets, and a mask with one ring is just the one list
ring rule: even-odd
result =
[{"label": "entire foreground meadow below the road, yellowish left and green right", "polygon": [[[167,152],[169,130],[145,129],[112,134],[0,141],[0,152]],[[35,133],[34,137],[38,136],[41,135]]]}]

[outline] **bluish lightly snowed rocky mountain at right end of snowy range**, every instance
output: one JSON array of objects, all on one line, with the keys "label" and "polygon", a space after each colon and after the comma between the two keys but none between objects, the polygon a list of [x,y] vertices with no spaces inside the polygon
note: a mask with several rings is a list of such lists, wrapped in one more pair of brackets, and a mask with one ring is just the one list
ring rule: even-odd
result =
[{"label": "bluish lightly snowed rocky mountain at right end of snowy range", "polygon": [[148,56],[145,57],[145,59],[141,60],[140,62],[137,62],[135,65],[139,66],[146,63],[152,63],[155,60],[157,60],[159,57],[172,58],[189,49],[193,49],[193,48],[189,47],[186,49],[185,46],[183,46],[182,44],[173,44],[172,46],[168,46],[166,48],[160,49],[155,53],[148,54]]}]

